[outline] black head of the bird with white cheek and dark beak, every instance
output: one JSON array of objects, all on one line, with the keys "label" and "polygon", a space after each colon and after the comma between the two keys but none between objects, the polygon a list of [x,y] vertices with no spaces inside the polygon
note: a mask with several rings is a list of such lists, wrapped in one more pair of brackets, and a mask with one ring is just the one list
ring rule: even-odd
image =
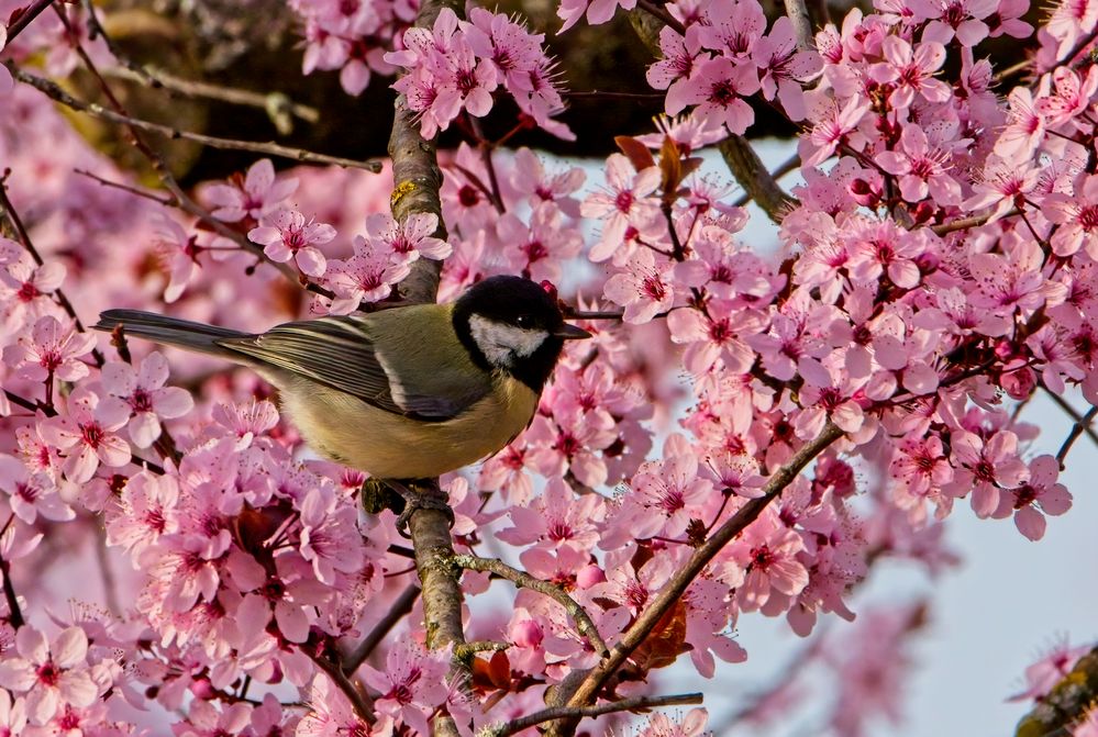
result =
[{"label": "black head of the bird with white cheek and dark beak", "polygon": [[521,277],[491,277],[470,287],[454,305],[454,330],[477,365],[506,371],[536,392],[564,342],[590,337],[564,322],[555,294]]}]

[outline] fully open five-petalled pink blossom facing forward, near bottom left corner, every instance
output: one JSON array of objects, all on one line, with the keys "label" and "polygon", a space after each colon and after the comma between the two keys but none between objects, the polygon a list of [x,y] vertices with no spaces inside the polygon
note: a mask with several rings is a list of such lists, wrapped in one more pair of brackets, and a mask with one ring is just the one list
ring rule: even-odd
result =
[{"label": "fully open five-petalled pink blossom facing forward, near bottom left corner", "polygon": [[65,704],[88,706],[99,690],[88,671],[88,636],[79,627],[63,629],[53,641],[27,625],[15,635],[18,657],[0,660],[0,685],[25,694],[31,724],[43,725]]}]

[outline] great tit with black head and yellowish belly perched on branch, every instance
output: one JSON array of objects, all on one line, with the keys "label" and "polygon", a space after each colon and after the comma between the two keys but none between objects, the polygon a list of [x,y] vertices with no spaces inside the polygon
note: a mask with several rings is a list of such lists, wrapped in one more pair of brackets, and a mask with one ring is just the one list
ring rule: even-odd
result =
[{"label": "great tit with black head and yellowish belly perched on branch", "polygon": [[285,323],[251,334],[137,310],[95,326],[248,366],[306,442],[378,479],[425,479],[495,454],[534,416],[564,340],[555,294],[491,277],[450,304]]}]

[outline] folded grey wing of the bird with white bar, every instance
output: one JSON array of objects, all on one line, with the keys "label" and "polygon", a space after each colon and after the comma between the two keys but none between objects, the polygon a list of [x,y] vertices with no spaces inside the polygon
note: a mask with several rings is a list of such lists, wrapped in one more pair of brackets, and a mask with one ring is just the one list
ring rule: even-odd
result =
[{"label": "folded grey wing of the bird with white bar", "polygon": [[[421,356],[429,370],[413,378],[415,372],[401,361],[381,355],[368,320],[348,316],[285,323],[262,335],[217,343],[387,412],[426,421],[448,420],[491,390],[490,381],[478,372],[455,371],[442,356]],[[431,345],[429,336],[403,337],[417,353],[424,339]]]}]

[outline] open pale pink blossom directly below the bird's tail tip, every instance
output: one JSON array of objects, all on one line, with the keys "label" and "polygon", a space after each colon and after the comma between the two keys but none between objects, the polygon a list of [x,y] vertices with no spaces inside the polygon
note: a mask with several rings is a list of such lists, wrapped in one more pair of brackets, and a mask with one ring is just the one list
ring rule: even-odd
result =
[{"label": "open pale pink blossom directly below the bird's tail tip", "polygon": [[162,417],[181,417],[195,406],[185,389],[165,387],[167,380],[168,362],[157,351],[145,356],[137,371],[129,364],[112,361],[103,366],[103,389],[133,410],[130,439],[138,448],[147,448],[159,437]]}]

